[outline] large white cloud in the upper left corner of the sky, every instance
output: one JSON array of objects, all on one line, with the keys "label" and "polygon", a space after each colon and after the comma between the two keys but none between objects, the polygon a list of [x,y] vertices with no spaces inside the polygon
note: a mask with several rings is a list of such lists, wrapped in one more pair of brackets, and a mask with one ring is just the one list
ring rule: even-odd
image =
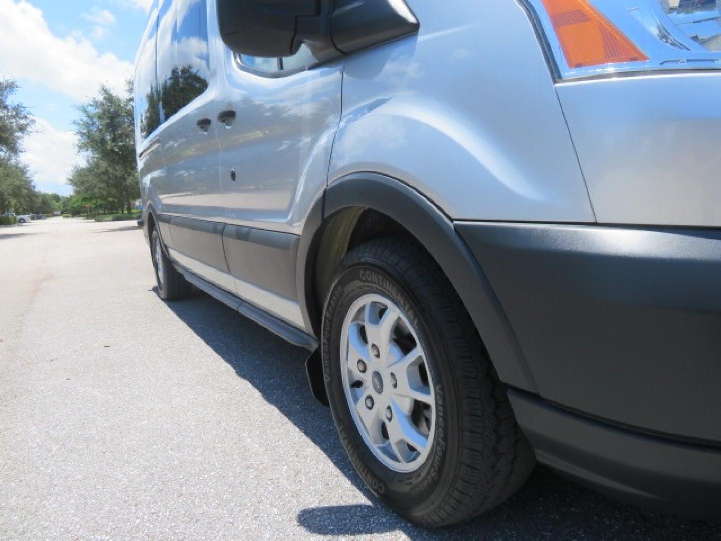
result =
[{"label": "large white cloud in the upper left corner of the sky", "polygon": [[39,82],[76,100],[92,96],[101,83],[118,92],[125,89],[131,63],[99,53],[79,32],[66,38],[53,35],[43,12],[25,0],[0,0],[0,13],[0,66],[5,76]]}]

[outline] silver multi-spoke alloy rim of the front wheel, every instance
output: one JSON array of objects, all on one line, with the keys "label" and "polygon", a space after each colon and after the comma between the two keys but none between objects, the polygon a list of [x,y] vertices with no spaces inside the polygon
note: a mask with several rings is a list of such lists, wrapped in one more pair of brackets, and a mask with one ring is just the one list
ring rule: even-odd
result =
[{"label": "silver multi-spoke alloy rim of the front wheel", "polygon": [[361,296],[341,336],[341,373],[355,426],[383,465],[420,468],[435,431],[435,395],[423,346],[394,302]]}]

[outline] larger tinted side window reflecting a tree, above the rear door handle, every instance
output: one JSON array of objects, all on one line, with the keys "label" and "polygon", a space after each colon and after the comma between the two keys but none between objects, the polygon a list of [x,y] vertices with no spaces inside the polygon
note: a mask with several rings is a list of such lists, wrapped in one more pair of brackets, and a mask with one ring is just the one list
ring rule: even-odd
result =
[{"label": "larger tinted side window reflecting a tree, above the rear door handle", "polygon": [[167,120],[208,89],[207,0],[166,0],[158,23],[158,81]]}]

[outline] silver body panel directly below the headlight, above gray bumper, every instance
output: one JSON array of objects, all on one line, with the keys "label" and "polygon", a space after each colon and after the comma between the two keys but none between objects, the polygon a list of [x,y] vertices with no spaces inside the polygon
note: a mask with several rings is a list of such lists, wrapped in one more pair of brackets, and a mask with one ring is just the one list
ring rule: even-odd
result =
[{"label": "silver body panel directly below the headlight, above gray bumper", "polygon": [[603,224],[721,227],[721,74],[557,86]]}]

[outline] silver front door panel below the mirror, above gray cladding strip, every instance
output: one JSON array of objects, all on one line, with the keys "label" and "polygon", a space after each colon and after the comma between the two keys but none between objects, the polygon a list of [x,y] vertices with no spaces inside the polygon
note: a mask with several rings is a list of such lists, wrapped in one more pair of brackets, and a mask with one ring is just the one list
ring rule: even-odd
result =
[{"label": "silver front door panel below the mirror, above gray cladding strip", "polygon": [[237,113],[231,127],[218,125],[224,220],[301,234],[326,187],[344,61],[270,77],[244,69],[227,48],[221,57],[217,109]]}]

